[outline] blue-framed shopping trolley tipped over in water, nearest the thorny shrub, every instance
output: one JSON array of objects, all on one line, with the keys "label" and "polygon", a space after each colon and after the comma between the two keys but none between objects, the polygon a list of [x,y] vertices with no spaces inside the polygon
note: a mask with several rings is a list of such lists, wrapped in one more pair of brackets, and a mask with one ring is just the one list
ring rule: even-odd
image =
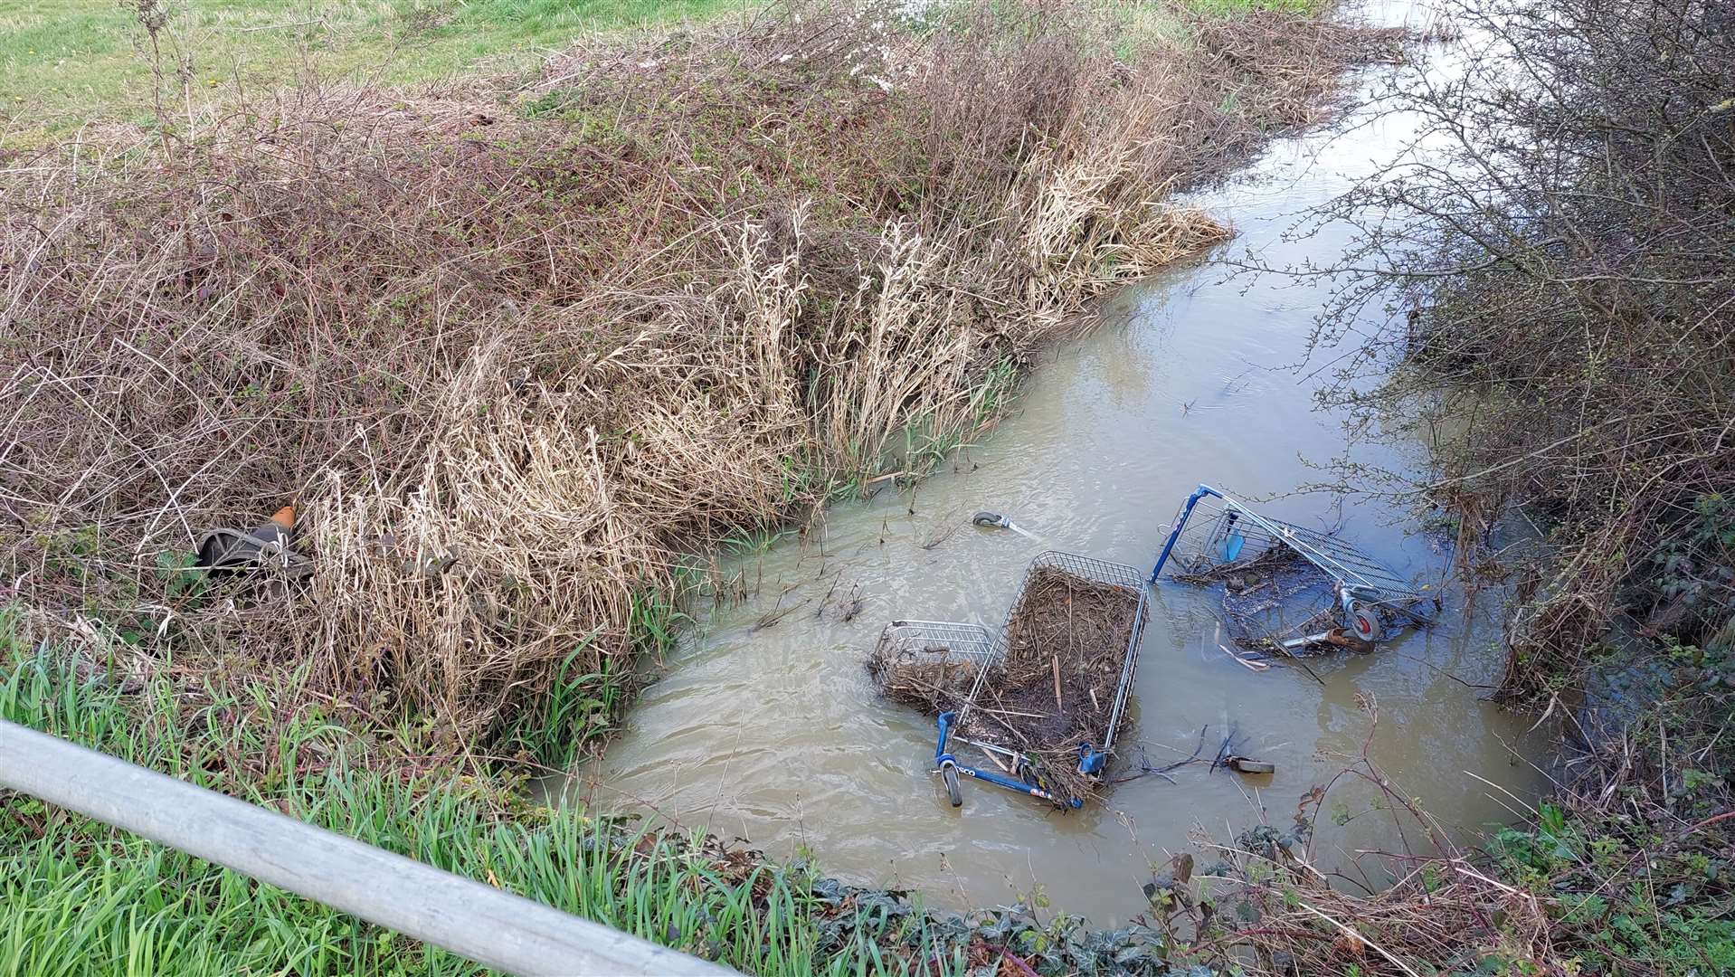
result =
[{"label": "blue-framed shopping trolley tipped over in water, nearest the thorny shrub", "polygon": [[[1438,597],[1424,595],[1348,541],[1261,515],[1206,484],[1187,496],[1176,512],[1162,554],[1150,569],[1150,583],[1156,585],[1168,569],[1171,580],[1185,583],[1227,583],[1234,595],[1237,583],[1241,590],[1251,590],[1247,578],[1265,573],[1256,583],[1277,590],[1273,578],[1286,564],[1301,566],[1312,576],[1296,592],[1317,583],[1329,593],[1327,607],[1289,628],[1294,633],[1251,642],[1237,635],[1242,644],[1275,646],[1294,654],[1338,637],[1336,632],[1312,632],[1341,621],[1343,632],[1365,647],[1402,626],[1430,625],[1440,611]],[[1277,599],[1261,606],[1273,604]]]}]

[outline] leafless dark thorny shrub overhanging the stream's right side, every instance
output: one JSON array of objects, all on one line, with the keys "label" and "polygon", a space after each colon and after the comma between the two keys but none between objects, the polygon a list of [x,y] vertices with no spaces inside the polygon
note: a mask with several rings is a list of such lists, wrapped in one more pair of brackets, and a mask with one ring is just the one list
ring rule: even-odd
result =
[{"label": "leafless dark thorny shrub overhanging the stream's right side", "polygon": [[[1461,566],[1516,583],[1506,692],[1534,699],[1624,616],[1688,644],[1735,628],[1735,9],[1454,14],[1463,73],[1391,102],[1442,156],[1341,201],[1364,236],[1319,342],[1360,352],[1329,401],[1435,446],[1402,491],[1457,514]],[[1393,297],[1391,328],[1343,326]],[[1546,554],[1496,566],[1503,519]]]}]

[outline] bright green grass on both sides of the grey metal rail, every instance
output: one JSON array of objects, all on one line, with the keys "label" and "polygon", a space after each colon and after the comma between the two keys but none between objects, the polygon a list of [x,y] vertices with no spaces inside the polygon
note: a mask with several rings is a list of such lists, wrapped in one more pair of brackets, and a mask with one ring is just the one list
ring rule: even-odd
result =
[{"label": "bright green grass on both sides of the grey metal rail", "polygon": [[[151,680],[121,694],[0,640],[0,717],[756,974],[897,972],[926,915],[862,920],[782,868],[576,810],[517,784],[394,769],[318,710]],[[892,942],[887,942],[892,941]],[[942,949],[953,958],[953,949]],[[474,974],[444,951],[26,797],[0,795],[0,974]]]}]

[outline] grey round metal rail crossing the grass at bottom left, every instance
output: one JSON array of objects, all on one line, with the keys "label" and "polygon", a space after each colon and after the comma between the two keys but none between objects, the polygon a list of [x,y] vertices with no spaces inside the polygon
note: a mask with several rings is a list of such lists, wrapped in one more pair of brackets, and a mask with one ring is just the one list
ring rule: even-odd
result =
[{"label": "grey round metal rail crossing the grass at bottom left", "polygon": [[734,974],[541,902],[0,720],[0,788],[512,974]]}]

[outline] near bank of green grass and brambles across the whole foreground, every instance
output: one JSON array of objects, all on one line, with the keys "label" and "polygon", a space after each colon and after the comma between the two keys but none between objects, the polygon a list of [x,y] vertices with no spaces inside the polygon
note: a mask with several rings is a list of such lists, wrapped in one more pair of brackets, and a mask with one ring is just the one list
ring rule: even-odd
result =
[{"label": "near bank of green grass and brambles across the whole foreground", "polygon": [[[123,685],[52,649],[3,642],[0,717],[269,805],[750,974],[1657,974],[1735,967],[1728,795],[1706,767],[1726,708],[1676,670],[1627,713],[1530,828],[1482,850],[1381,856],[1378,895],[1313,868],[1320,791],[1294,823],[1180,856],[1147,887],[1149,923],[1091,932],[1027,909],[935,915],[897,892],[777,866],[713,840],[529,807],[498,770],[416,753],[413,731],[350,732],[295,689]],[[1721,708],[1721,711],[1718,711]],[[1653,720],[1671,717],[1662,725]],[[1652,732],[1655,731],[1655,732]],[[1655,736],[1657,739],[1652,739]],[[1633,769],[1633,757],[1669,767]],[[1360,762],[1346,776],[1372,784]],[[1390,790],[1364,816],[1430,835]],[[1667,810],[1676,823],[1660,823]],[[1022,963],[1022,967],[1020,967]],[[363,925],[42,803],[0,795],[7,974],[474,974]],[[987,970],[984,970],[987,968]]]}]

